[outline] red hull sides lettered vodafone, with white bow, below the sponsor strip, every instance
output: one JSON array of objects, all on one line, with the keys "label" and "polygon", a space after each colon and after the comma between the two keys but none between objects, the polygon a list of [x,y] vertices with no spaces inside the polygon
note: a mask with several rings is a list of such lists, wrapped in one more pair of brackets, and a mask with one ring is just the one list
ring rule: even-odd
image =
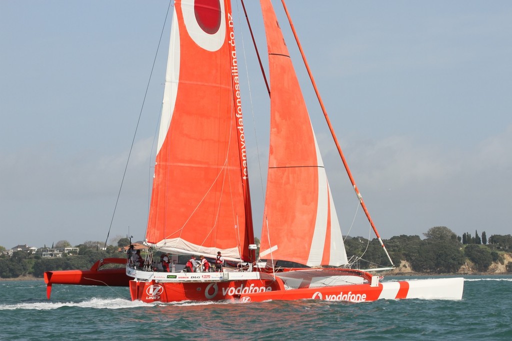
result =
[{"label": "red hull sides lettered vodafone, with white bow, below the sponsor strip", "polygon": [[[233,280],[220,282],[150,282],[130,281],[132,300],[142,302],[221,301],[262,302],[268,300],[323,300],[346,302],[372,302],[376,300],[426,299],[460,300],[464,287],[463,278],[387,281],[379,283],[364,271],[330,270],[338,273],[360,272],[370,281],[359,284],[285,288],[282,278],[264,280]],[[308,271],[310,272],[310,271]],[[313,272],[310,272],[310,274]],[[302,275],[301,272],[298,272]],[[307,279],[307,273],[304,273]],[[296,278],[296,277],[295,277]],[[335,276],[332,277],[334,279]],[[290,281],[289,276],[288,281]],[[293,281],[290,281],[290,284]],[[309,283],[309,281],[306,281]],[[304,283],[306,285],[306,283]],[[307,284],[309,286],[309,284]]]}]

